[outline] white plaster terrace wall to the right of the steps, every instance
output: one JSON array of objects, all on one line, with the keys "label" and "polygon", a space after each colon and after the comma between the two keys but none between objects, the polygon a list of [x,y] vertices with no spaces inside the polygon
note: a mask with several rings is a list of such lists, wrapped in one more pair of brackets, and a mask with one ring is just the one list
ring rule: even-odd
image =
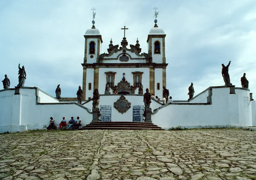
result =
[{"label": "white plaster terrace wall to the right of the steps", "polygon": [[252,121],[251,106],[245,98],[248,93],[246,90],[229,93],[229,88],[213,88],[211,105],[169,104],[152,115],[152,122],[163,128],[247,126]]}]

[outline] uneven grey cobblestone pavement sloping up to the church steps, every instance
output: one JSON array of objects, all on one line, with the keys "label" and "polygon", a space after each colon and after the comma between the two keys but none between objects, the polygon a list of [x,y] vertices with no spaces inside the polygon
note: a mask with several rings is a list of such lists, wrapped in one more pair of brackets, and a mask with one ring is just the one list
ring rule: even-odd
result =
[{"label": "uneven grey cobblestone pavement sloping up to the church steps", "polygon": [[29,131],[0,135],[3,180],[256,180],[256,132]]}]

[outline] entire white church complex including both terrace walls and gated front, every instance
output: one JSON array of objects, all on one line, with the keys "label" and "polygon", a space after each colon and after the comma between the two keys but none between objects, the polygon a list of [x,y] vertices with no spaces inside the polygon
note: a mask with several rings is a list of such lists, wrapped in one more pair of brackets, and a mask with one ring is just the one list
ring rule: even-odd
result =
[{"label": "entire white church complex including both terrace walls and gated front", "polygon": [[[125,37],[121,45],[100,52],[102,36],[93,25],[84,34],[83,101],[58,100],[38,87],[15,87],[0,90],[0,133],[44,129],[49,117],[59,124],[63,116],[79,116],[82,124],[93,119],[93,91],[99,90],[100,121],[143,122],[143,93],[162,98],[166,87],[166,53],[163,29],[155,25],[148,29],[148,51],[141,53],[139,41],[129,45]],[[100,77],[100,78],[99,78]],[[105,78],[102,78],[105,77]],[[110,94],[105,93],[109,83]],[[168,88],[168,87],[167,87]],[[163,105],[151,99],[152,123],[163,129],[171,127],[252,127],[256,126],[256,103],[247,88],[235,86],[205,87],[206,90],[190,101],[173,101]],[[116,90],[116,94],[114,93]],[[121,103],[120,103],[121,101]]]}]

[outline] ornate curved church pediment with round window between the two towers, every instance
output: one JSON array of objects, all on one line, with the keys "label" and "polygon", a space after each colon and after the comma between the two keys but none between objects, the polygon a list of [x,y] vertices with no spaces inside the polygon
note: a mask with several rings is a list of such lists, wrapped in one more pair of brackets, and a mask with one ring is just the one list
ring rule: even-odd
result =
[{"label": "ornate curved church pediment with round window between the two towers", "polygon": [[128,42],[126,39],[123,39],[121,45],[122,47],[119,47],[119,45],[113,45],[111,43],[108,48],[108,53],[102,53],[99,55],[99,62],[108,63],[110,60],[111,63],[132,62],[133,59],[141,60],[142,63],[149,62],[148,53],[141,53],[138,41],[136,45],[130,45],[130,48],[127,48]]}]

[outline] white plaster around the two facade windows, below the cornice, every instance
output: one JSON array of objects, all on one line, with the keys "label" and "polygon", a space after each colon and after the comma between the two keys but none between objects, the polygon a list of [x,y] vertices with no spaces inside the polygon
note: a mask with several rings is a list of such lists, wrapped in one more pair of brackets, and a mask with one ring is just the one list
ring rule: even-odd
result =
[{"label": "white plaster around the two facade windows, below the cornice", "polygon": [[[123,73],[125,73],[125,80],[133,85],[134,79],[133,74],[131,72],[140,71],[142,74],[142,84],[143,84],[143,93],[145,93],[145,89],[149,89],[149,68],[99,68],[99,93],[105,93],[106,86],[106,74],[105,72],[113,71],[115,74],[115,82],[114,85],[122,81]],[[135,94],[138,94],[139,88],[135,90]],[[112,90],[111,90],[112,93]]]}]

